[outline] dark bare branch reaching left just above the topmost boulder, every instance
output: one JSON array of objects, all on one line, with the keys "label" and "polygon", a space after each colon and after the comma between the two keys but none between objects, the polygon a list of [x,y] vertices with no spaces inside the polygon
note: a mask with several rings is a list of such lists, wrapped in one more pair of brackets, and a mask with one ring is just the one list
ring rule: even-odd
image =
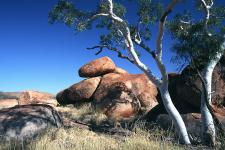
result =
[{"label": "dark bare branch reaching left just above the topmost boulder", "polygon": [[87,49],[88,50],[99,49],[99,51],[97,53],[95,53],[95,55],[98,55],[104,50],[104,48],[106,48],[108,50],[111,50],[111,51],[114,51],[114,52],[117,53],[118,57],[126,59],[126,60],[130,61],[131,63],[134,63],[134,60],[132,58],[123,55],[122,52],[119,49],[117,49],[115,47],[111,47],[109,45],[97,45],[97,46],[89,47]]}]

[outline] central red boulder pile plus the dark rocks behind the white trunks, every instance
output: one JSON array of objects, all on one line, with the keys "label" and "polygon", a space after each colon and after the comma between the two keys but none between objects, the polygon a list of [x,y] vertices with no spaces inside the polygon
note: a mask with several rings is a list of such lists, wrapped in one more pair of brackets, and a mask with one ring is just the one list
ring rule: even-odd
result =
[{"label": "central red boulder pile plus the dark rocks behind the white trunks", "polygon": [[[225,106],[225,58],[220,62],[213,72],[214,109],[224,109]],[[79,75],[88,79],[58,93],[59,103],[75,104],[89,101],[114,122],[132,118],[141,111],[149,112],[143,117],[147,121],[155,121],[158,115],[166,113],[157,87],[146,75],[130,74],[116,67],[108,57],[96,59],[82,66]],[[169,92],[179,112],[199,113],[201,82],[196,77],[196,72],[186,67],[181,74],[170,73],[168,77]]]}]

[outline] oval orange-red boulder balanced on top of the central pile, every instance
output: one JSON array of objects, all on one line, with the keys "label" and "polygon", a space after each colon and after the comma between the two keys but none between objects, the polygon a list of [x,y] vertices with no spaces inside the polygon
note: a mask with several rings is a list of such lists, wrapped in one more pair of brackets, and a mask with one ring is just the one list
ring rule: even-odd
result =
[{"label": "oval orange-red boulder balanced on top of the central pile", "polygon": [[102,57],[91,61],[79,69],[80,77],[97,77],[111,73],[116,69],[114,62],[109,57]]}]

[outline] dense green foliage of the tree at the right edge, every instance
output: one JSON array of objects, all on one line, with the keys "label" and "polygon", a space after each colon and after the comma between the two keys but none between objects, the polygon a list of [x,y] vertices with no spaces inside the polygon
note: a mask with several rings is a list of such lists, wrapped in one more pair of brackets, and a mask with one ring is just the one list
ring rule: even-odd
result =
[{"label": "dense green foliage of the tree at the right edge", "polygon": [[187,11],[177,14],[168,24],[175,41],[173,45],[173,51],[177,54],[175,59],[181,59],[188,63],[195,61],[195,64],[201,68],[214,59],[217,52],[224,51],[221,49],[221,45],[225,40],[225,7],[213,7],[210,12],[208,32],[204,30],[203,19],[194,18]]}]

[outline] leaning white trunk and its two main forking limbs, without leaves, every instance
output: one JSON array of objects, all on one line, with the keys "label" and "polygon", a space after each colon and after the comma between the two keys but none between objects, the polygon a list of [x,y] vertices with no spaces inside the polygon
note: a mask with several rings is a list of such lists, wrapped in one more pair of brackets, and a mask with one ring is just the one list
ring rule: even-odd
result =
[{"label": "leaning white trunk and its two main forking limbs, without leaves", "polygon": [[160,72],[162,74],[162,77],[163,77],[162,81],[159,80],[156,76],[154,76],[153,73],[151,72],[151,70],[144,63],[141,62],[141,60],[139,59],[139,57],[135,51],[134,44],[133,44],[133,41],[132,41],[132,38],[130,35],[129,26],[127,25],[126,21],[124,21],[122,18],[120,18],[116,14],[114,14],[112,0],[107,0],[107,1],[109,3],[109,8],[110,8],[109,14],[103,14],[103,16],[109,16],[111,19],[113,19],[114,21],[117,21],[124,27],[123,32],[120,31],[120,29],[118,29],[118,31],[120,31],[122,33],[122,36],[124,36],[127,50],[131,54],[135,65],[138,68],[140,68],[148,76],[148,78],[157,85],[157,87],[159,87],[160,93],[161,93],[161,96],[163,99],[163,104],[164,104],[168,114],[172,117],[172,119],[176,125],[176,128],[180,134],[181,142],[183,142],[184,144],[191,144],[188,134],[187,134],[187,129],[185,127],[184,121],[181,118],[181,116],[180,116],[179,112],[177,111],[177,109],[175,108],[175,106],[173,105],[173,102],[170,98],[170,94],[168,91],[168,76],[166,73],[165,66],[163,65],[163,63],[161,61],[162,39],[163,39],[163,31],[164,31],[163,29],[164,29],[166,17],[171,12],[174,5],[177,3],[177,0],[172,0],[172,2],[169,4],[168,8],[164,12],[164,14],[161,18],[162,20],[160,21],[160,31],[159,31],[158,40],[157,40],[157,54],[154,59],[155,59],[157,65],[160,69]]}]

